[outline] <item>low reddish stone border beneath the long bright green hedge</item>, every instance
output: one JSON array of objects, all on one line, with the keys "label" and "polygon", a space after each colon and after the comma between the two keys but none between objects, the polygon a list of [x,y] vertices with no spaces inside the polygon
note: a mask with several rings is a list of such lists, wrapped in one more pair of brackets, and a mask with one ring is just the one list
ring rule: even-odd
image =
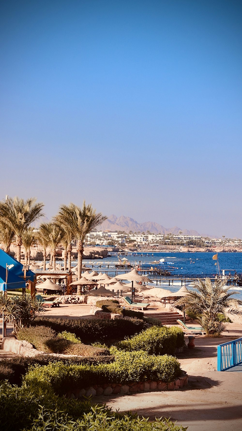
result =
[{"label": "low reddish stone border beneath the long bright green hedge", "polygon": [[76,389],[68,391],[66,394],[68,398],[82,398],[82,397],[96,397],[102,395],[127,395],[135,394],[138,392],[156,392],[163,390],[175,390],[181,389],[183,386],[188,384],[188,376],[185,374],[177,377],[171,383],[165,383],[164,381],[145,381],[138,383],[127,383],[127,384],[96,384],[86,389]]}]

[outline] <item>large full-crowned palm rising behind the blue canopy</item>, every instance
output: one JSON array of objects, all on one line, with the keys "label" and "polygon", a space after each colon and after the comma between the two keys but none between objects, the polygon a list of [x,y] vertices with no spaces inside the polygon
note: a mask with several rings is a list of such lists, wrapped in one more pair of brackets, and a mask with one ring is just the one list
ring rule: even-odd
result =
[{"label": "large full-crowned palm rising behind the blue canopy", "polygon": [[42,217],[43,203],[36,203],[35,197],[23,200],[9,197],[0,202],[0,219],[16,236],[17,260],[20,262],[23,233],[32,222]]}]

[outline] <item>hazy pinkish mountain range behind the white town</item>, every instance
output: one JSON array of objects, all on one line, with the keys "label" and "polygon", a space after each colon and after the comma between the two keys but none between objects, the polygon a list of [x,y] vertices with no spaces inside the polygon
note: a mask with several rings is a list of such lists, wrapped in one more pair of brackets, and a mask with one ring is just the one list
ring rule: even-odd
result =
[{"label": "hazy pinkish mountain range behind the white town", "polygon": [[154,234],[179,234],[180,231],[184,235],[199,235],[197,231],[189,231],[188,229],[181,229],[177,226],[173,228],[164,228],[164,226],[158,225],[155,222],[144,222],[138,223],[136,220],[131,219],[130,217],[126,217],[125,215],[121,215],[120,217],[116,217],[116,215],[112,214],[110,217],[102,223],[101,228],[102,231],[133,231],[133,232],[147,232],[150,231]]}]

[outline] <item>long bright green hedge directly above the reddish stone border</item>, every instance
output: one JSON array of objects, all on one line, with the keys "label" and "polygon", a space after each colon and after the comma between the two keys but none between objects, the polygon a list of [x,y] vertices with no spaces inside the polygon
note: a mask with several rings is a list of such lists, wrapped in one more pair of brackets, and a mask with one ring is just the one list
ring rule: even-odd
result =
[{"label": "long bright green hedge directly above the reddish stone border", "polygon": [[146,380],[172,381],[180,373],[173,356],[151,356],[147,352],[123,352],[113,348],[115,361],[99,365],[64,365],[62,362],[36,366],[25,375],[28,386],[65,395],[69,390],[104,383],[128,383]]}]

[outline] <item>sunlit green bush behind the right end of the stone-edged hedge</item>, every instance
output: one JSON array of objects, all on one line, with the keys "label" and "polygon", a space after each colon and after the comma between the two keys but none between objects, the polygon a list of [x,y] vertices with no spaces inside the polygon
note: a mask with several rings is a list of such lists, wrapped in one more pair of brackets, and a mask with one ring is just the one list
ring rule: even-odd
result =
[{"label": "sunlit green bush behind the right end of the stone-edged hedge", "polygon": [[171,328],[152,326],[130,339],[119,341],[119,350],[145,350],[150,355],[174,355],[177,347],[177,334]]}]

